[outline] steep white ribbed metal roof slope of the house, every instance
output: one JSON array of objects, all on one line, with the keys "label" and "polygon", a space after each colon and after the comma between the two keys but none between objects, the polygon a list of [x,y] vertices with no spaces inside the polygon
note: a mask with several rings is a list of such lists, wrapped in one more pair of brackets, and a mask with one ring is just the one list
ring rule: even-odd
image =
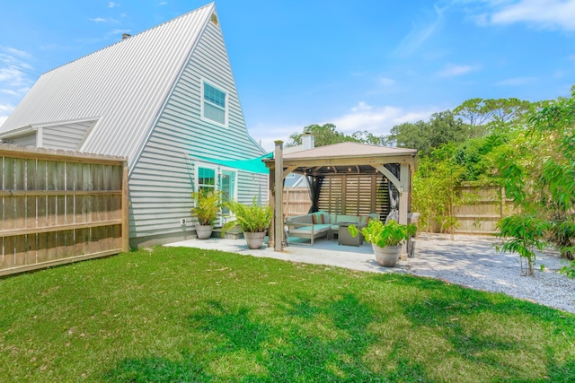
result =
[{"label": "steep white ribbed metal roof slope of the house", "polygon": [[214,3],[42,74],[0,134],[99,118],[82,152],[135,161],[212,13]]}]

